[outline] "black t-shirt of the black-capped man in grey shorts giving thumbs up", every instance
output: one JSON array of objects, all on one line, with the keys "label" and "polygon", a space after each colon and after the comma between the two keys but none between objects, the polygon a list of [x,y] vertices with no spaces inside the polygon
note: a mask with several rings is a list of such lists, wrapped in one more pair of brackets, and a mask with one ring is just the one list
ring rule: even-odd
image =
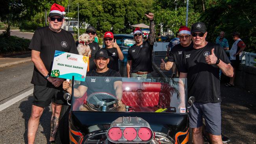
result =
[{"label": "black t-shirt of the black-capped man in grey shorts giving thumbs up", "polygon": [[230,63],[223,48],[211,42],[203,48],[186,50],[183,54],[185,65],[180,66],[180,72],[187,73],[188,97],[195,96],[196,102],[221,102],[219,67],[208,65],[205,61],[212,48],[216,57],[224,63]]}]

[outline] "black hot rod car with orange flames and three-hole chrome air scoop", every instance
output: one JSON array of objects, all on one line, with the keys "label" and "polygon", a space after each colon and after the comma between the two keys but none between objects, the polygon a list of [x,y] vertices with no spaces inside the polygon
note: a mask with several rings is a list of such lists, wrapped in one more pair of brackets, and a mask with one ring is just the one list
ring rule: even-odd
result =
[{"label": "black hot rod car with orange flames and three-hole chrome air scoop", "polygon": [[[90,81],[112,77],[86,77]],[[61,142],[70,144],[191,144],[186,79],[121,78],[123,111],[117,110],[115,94],[101,91],[81,98],[74,89],[82,85],[72,80],[72,94],[65,94],[70,107],[59,126]],[[182,84],[181,84],[182,83]],[[111,85],[106,85],[113,89]],[[89,89],[89,88],[88,88]],[[183,90],[183,95],[181,94]],[[185,102],[185,103],[183,103]],[[183,104],[183,105],[182,105]],[[89,107],[80,111],[81,105]]]}]

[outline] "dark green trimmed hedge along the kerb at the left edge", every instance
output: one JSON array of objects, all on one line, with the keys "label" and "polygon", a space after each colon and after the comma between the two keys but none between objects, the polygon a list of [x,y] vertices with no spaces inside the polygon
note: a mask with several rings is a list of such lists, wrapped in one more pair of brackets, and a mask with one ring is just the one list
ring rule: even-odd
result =
[{"label": "dark green trimmed hedge along the kerb at the left edge", "polygon": [[29,39],[23,39],[16,36],[6,38],[3,35],[0,35],[0,54],[27,51],[29,44]]}]

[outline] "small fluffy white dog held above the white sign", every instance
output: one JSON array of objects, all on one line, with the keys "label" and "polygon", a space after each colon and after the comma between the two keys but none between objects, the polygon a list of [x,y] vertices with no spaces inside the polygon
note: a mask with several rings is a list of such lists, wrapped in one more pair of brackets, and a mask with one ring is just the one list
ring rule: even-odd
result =
[{"label": "small fluffy white dog held above the white sign", "polygon": [[90,56],[91,55],[91,49],[90,46],[88,45],[90,42],[90,36],[87,33],[83,33],[78,37],[78,54],[84,55],[84,56]]}]

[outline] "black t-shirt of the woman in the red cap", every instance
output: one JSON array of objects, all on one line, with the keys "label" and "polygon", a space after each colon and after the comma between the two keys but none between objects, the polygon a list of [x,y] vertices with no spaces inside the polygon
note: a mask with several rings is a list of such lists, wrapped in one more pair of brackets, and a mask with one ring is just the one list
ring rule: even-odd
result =
[{"label": "black t-shirt of the woman in the red cap", "polygon": [[109,63],[108,68],[111,68],[112,70],[119,71],[118,68],[118,54],[117,54],[117,48],[103,48],[104,50],[108,51],[109,56]]}]

